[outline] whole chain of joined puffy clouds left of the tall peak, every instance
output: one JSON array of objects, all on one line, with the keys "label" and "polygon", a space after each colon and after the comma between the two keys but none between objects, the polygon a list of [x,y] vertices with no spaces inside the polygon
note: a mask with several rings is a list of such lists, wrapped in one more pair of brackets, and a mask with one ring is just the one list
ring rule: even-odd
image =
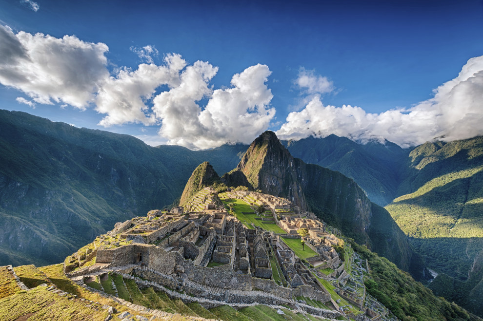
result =
[{"label": "whole chain of joined puffy clouds left of the tall peak", "polygon": [[169,54],[157,65],[154,46],[131,50],[147,63],[135,70],[121,67],[111,75],[104,43],[15,34],[0,25],[0,83],[31,99],[19,97],[19,103],[93,107],[104,115],[101,126],[160,126],[162,141],[196,149],[249,143],[275,116],[273,95],[265,84],[271,74],[266,65],[251,66],[233,76],[231,88],[214,90],[210,82],[218,67],[209,62],[188,64]]}]

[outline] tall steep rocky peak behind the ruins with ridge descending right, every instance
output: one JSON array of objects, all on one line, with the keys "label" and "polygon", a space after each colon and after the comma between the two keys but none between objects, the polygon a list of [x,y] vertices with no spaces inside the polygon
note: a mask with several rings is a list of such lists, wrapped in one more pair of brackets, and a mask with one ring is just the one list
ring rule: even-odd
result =
[{"label": "tall steep rocky peak behind the ruins with ridge descending right", "polygon": [[344,235],[423,278],[421,258],[384,208],[371,203],[352,179],[294,158],[275,133],[267,131],[256,138],[229,175],[235,173],[243,174],[253,189],[313,211]]}]

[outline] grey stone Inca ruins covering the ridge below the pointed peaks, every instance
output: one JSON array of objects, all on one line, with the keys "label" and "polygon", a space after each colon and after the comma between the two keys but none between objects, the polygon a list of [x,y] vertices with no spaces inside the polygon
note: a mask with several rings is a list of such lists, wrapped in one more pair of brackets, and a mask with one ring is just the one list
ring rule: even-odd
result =
[{"label": "grey stone Inca ruins covering the ridge below the pointed peaks", "polygon": [[[79,276],[95,269],[137,264],[155,273],[146,272],[145,278],[155,278],[159,283],[176,279],[179,287],[199,283],[225,290],[263,290],[290,299],[304,296],[328,302],[338,309],[316,277],[346,282],[344,264],[333,248],[337,237],[327,233],[313,213],[301,212],[286,199],[255,192],[228,193],[252,206],[265,205],[286,234],[244,226],[228,213],[213,190],[203,189],[187,205],[192,210],[152,210],[147,217],[117,223],[112,231],[96,239],[90,250],[67,258],[65,272]],[[282,240],[300,239],[300,228],[307,228],[305,246],[316,253],[304,260]],[[325,275],[318,270],[321,268],[334,271]],[[276,283],[274,273],[284,282]],[[342,291],[344,294],[351,295]],[[351,299],[361,303],[358,298]]]}]

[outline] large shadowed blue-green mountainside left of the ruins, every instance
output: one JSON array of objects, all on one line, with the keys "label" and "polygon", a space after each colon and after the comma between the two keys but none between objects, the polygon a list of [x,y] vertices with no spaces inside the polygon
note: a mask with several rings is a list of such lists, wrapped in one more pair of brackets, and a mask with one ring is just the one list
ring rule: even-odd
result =
[{"label": "large shadowed blue-green mountainside left of the ruins", "polygon": [[150,147],[0,111],[0,265],[61,262],[114,223],[172,204],[201,162],[228,171],[245,150]]}]

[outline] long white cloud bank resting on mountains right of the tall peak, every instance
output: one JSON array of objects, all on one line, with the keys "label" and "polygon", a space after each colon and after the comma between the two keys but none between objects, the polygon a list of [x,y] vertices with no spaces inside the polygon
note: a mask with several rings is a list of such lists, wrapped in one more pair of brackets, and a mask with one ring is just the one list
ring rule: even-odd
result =
[{"label": "long white cloud bank resting on mountains right of the tall peak", "polygon": [[402,147],[438,136],[450,141],[483,135],[483,56],[469,59],[459,75],[434,94],[412,108],[379,114],[347,105],[324,106],[316,95],[302,111],[289,113],[277,134],[301,139],[335,133],[362,142],[385,138]]}]

